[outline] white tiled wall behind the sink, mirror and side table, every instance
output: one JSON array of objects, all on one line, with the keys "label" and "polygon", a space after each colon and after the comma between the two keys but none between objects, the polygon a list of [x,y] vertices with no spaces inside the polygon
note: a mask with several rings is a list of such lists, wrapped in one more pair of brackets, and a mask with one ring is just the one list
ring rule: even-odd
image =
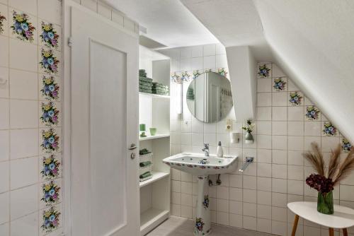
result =
[{"label": "white tiled wall behind the sink, mirror and side table", "polygon": [[[222,45],[204,45],[178,49],[161,50],[171,57],[171,73],[187,70],[227,68],[226,54]],[[215,153],[217,141],[222,141],[224,153],[255,157],[242,174],[233,172],[222,175],[221,186],[210,187],[210,208],[212,222],[236,228],[246,228],[275,235],[290,235],[293,214],[287,211],[291,201],[316,201],[316,191],[309,189],[304,179],[313,172],[302,153],[309,150],[312,141],[321,146],[325,157],[331,148],[341,143],[343,137],[337,134],[326,137],[322,134],[324,115],[317,121],[308,121],[304,116],[307,105],[312,103],[302,94],[299,106],[290,105],[290,91],[298,91],[294,83],[275,64],[268,64],[273,74],[269,78],[257,79],[257,118],[253,131],[255,143],[229,143],[224,127],[226,121],[203,124],[195,119],[183,106],[182,119],[173,110],[171,98],[171,153],[201,152],[202,143],[210,143]],[[285,90],[273,89],[275,77],[284,77]],[[184,92],[188,84],[183,84]],[[185,93],[184,93],[185,94]],[[173,84],[171,85],[173,95]],[[234,119],[230,114],[229,119]],[[241,131],[241,121],[234,121],[233,129]],[[343,156],[345,156],[343,154]],[[171,212],[174,216],[195,218],[197,180],[194,176],[171,169],[172,193]],[[215,176],[210,176],[215,183]],[[354,208],[354,175],[334,190],[336,203]],[[350,230],[353,234],[354,230]],[[338,234],[338,232],[336,232]],[[328,235],[326,228],[300,220],[297,235]]]}]

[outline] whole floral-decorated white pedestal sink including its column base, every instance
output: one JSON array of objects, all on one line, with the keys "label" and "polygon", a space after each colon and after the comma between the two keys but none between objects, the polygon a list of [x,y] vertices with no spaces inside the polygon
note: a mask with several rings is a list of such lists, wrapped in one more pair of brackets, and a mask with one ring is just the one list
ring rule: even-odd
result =
[{"label": "whole floral-decorated white pedestal sink including its column base", "polygon": [[209,175],[234,172],[237,168],[236,156],[225,155],[217,158],[215,155],[206,157],[198,153],[180,153],[163,160],[171,168],[198,175],[197,213],[194,235],[210,233],[209,209]]}]

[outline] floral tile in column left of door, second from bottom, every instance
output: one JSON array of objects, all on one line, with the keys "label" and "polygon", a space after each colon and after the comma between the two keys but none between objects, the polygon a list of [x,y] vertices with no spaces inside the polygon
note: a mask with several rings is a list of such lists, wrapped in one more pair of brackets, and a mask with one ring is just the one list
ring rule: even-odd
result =
[{"label": "floral tile in column left of door, second from bottom", "polygon": [[62,201],[62,179],[40,184],[40,209],[54,206]]}]

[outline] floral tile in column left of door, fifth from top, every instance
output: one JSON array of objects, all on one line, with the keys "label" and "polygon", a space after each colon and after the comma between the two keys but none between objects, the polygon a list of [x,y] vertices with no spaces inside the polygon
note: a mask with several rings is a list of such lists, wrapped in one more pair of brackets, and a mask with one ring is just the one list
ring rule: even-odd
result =
[{"label": "floral tile in column left of door, fifth from top", "polygon": [[41,155],[59,153],[62,150],[62,129],[40,129],[39,145]]}]

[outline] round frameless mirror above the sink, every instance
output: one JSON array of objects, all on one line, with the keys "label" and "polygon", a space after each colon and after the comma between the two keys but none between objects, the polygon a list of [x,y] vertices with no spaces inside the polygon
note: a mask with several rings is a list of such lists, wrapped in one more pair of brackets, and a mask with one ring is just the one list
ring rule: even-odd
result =
[{"label": "round frameless mirror above the sink", "polygon": [[219,73],[202,73],[190,83],[186,100],[195,118],[206,123],[218,122],[232,109],[231,83]]}]

